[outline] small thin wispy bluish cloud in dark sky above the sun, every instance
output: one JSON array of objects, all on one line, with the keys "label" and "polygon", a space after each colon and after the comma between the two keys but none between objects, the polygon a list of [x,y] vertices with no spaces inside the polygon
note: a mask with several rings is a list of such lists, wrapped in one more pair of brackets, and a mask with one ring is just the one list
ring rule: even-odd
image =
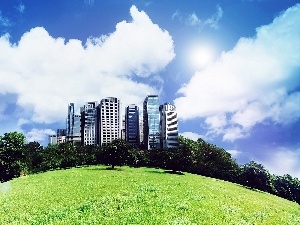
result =
[{"label": "small thin wispy bluish cloud in dark sky above the sun", "polygon": [[223,10],[219,5],[217,5],[217,11],[211,15],[211,17],[204,20],[201,20],[195,12],[189,14],[187,17],[184,17],[179,10],[175,11],[175,13],[172,15],[172,19],[178,19],[181,22],[184,21],[186,25],[196,27],[197,29],[202,29],[204,27],[218,29],[219,20],[222,18],[222,16]]}]

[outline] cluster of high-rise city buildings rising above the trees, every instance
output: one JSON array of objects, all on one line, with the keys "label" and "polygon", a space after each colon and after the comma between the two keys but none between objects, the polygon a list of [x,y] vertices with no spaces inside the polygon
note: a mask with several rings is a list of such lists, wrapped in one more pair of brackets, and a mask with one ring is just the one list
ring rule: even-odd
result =
[{"label": "cluster of high-rise city buildings rising above the trees", "polygon": [[[118,98],[108,97],[99,103],[87,102],[76,114],[74,103],[68,105],[66,129],[49,136],[50,144],[71,142],[80,145],[103,146],[116,139],[143,149],[178,147],[176,107],[159,104],[157,95],[148,95],[140,114],[135,104],[125,107],[121,114]],[[140,118],[142,117],[142,118]]]}]

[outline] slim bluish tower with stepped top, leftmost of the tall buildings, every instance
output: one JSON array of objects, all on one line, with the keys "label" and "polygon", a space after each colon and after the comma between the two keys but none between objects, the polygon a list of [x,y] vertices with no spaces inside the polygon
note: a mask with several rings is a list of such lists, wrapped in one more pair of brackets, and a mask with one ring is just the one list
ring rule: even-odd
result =
[{"label": "slim bluish tower with stepped top, leftmost of the tall buildings", "polygon": [[68,117],[67,117],[67,142],[80,143],[80,115],[75,114],[74,103],[68,105]]}]

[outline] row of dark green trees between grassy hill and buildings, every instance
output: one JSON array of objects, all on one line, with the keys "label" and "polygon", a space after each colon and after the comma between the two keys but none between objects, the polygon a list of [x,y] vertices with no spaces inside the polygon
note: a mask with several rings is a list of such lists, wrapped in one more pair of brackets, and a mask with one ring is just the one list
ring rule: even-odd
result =
[{"label": "row of dark green trees between grassy hill and buildings", "polygon": [[124,140],[106,146],[80,146],[71,143],[41,146],[26,143],[22,133],[0,136],[0,181],[48,170],[105,164],[156,167],[172,173],[190,172],[238,183],[300,204],[300,181],[288,174],[272,175],[261,164],[250,161],[238,165],[224,149],[199,138],[179,137],[177,149],[139,149]]}]

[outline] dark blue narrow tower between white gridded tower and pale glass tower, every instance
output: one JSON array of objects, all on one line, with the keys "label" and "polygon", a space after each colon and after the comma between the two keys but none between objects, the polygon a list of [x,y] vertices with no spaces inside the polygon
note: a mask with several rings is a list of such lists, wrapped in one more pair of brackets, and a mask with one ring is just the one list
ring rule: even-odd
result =
[{"label": "dark blue narrow tower between white gridded tower and pale glass tower", "polygon": [[139,107],[134,104],[125,109],[125,136],[129,144],[140,145]]}]

